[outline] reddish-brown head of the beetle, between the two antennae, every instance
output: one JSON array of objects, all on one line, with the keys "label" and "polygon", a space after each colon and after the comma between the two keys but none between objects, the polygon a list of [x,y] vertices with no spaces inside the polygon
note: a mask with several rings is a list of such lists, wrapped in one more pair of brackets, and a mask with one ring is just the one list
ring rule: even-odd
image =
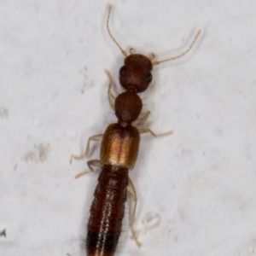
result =
[{"label": "reddish-brown head of the beetle, between the two antennae", "polygon": [[133,88],[136,92],[143,92],[152,81],[152,62],[144,55],[128,55],[125,65],[119,70],[119,81],[127,90]]}]

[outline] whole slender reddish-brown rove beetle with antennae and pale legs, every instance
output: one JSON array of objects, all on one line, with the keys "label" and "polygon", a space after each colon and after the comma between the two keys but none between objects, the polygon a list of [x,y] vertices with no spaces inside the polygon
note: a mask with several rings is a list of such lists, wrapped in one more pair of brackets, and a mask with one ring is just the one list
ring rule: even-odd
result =
[{"label": "whole slender reddish-brown rove beetle with antennae and pale legs", "polygon": [[[136,125],[143,126],[149,112],[143,112],[143,102],[138,93],[147,90],[152,80],[151,71],[154,65],[164,61],[171,61],[186,54],[195,44],[195,36],[189,49],[183,54],[163,61],[152,62],[147,56],[139,54],[128,55],[122,49],[109,29],[109,17],[111,6],[108,10],[107,28],[110,37],[125,55],[125,65],[119,70],[119,82],[125,92],[119,94],[115,99],[111,93],[113,81],[110,74],[108,87],[108,99],[114,109],[118,119],[117,123],[108,126],[105,133],[89,138],[84,155],[72,155],[71,160],[81,159],[90,150],[91,140],[102,139],[101,159],[88,161],[90,171],[94,171],[92,166],[101,166],[102,171],[98,178],[94,200],[90,207],[90,218],[88,223],[88,233],[86,238],[87,256],[112,256],[116,250],[121,232],[122,219],[125,211],[125,201],[127,191],[131,193],[135,206],[131,213],[130,226],[132,236],[137,241],[136,233],[133,230],[135,211],[137,206],[137,195],[133,184],[128,176],[129,169],[135,166],[139,149],[140,134],[149,132],[154,137],[157,135],[148,128],[138,129]],[[162,135],[171,134],[172,131]],[[81,174],[84,174],[81,173]],[[81,175],[79,174],[79,176]]]}]

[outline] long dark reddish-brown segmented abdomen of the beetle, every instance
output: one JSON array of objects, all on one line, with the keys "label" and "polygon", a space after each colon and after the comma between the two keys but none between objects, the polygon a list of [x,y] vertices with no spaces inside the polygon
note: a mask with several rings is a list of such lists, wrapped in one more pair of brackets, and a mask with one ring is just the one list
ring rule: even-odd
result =
[{"label": "long dark reddish-brown segmented abdomen of the beetle", "polygon": [[111,256],[115,252],[125,212],[127,185],[127,168],[102,167],[90,207],[87,256]]}]

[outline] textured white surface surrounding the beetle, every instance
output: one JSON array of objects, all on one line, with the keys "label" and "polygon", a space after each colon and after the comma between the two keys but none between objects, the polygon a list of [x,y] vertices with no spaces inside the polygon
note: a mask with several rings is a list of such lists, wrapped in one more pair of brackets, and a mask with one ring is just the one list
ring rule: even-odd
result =
[{"label": "textured white surface surrounding the beetle", "polygon": [[[69,158],[116,120],[104,69],[119,92],[123,56],[106,31],[108,3],[0,2],[1,256],[84,255],[97,173],[74,179],[86,160],[70,166]],[[143,247],[131,240],[126,214],[116,255],[256,255],[255,1],[113,6],[123,48],[156,59],[179,54],[203,32],[189,55],[154,67],[142,95],[148,126],[174,134],[143,135],[131,172]]]}]

